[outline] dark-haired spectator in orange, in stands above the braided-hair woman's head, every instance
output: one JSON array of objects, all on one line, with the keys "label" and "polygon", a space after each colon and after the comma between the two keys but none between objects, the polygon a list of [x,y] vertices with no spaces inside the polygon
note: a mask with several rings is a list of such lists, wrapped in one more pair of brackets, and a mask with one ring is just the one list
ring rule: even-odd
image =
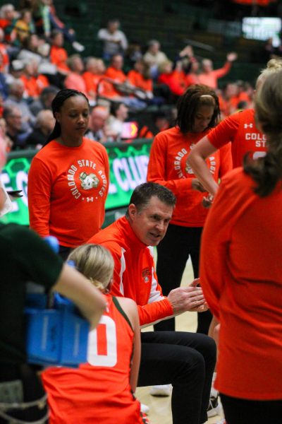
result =
[{"label": "dark-haired spectator in orange, in stands above the braided-hair woman's head", "polygon": [[61,75],[66,76],[70,72],[67,64],[68,53],[63,48],[63,34],[59,30],[53,30],[51,33],[50,61],[56,65]]}]

